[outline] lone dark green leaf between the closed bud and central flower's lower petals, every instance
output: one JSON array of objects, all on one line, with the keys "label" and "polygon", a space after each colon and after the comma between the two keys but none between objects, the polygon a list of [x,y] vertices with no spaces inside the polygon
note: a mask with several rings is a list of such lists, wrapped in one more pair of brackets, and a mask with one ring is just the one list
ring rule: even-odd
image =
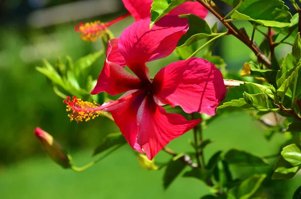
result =
[{"label": "lone dark green leaf between the closed bud and central flower's lower petals", "polygon": [[93,155],[99,154],[112,147],[118,147],[125,143],[126,143],[126,140],[124,139],[124,136],[120,132],[110,133],[96,147],[96,149],[93,152]]}]

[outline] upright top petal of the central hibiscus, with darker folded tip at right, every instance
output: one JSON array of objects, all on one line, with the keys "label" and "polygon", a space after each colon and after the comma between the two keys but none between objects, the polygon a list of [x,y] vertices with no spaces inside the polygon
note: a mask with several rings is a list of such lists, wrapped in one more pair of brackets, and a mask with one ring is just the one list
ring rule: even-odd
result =
[{"label": "upright top petal of the central hibiscus, with darker folded tip at right", "polygon": [[170,55],[188,30],[188,20],[178,16],[162,18],[152,30],[149,29],[149,22],[150,18],[147,18],[126,28],[118,44],[128,68],[144,82],[149,82],[145,63]]}]

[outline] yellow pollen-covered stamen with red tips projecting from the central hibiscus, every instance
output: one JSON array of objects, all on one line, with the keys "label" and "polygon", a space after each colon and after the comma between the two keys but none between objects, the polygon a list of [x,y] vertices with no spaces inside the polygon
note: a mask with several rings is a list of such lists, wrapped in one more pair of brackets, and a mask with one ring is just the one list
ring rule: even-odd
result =
[{"label": "yellow pollen-covered stamen with red tips projecting from the central hibiscus", "polygon": [[99,114],[101,114],[102,111],[105,111],[106,108],[109,108],[111,106],[114,106],[116,104],[119,104],[121,102],[124,102],[126,100],[129,100],[133,97],[133,94],[129,94],[121,99],[118,99],[116,101],[112,101],[110,103],[107,103],[106,105],[99,105],[96,102],[86,102],[82,101],[81,99],[77,99],[76,96],[67,97],[66,100],[63,100],[63,103],[67,104],[67,112],[70,112],[68,114],[68,117],[70,117],[70,121],[89,121],[90,119],[94,119],[95,117],[98,117]]}]

